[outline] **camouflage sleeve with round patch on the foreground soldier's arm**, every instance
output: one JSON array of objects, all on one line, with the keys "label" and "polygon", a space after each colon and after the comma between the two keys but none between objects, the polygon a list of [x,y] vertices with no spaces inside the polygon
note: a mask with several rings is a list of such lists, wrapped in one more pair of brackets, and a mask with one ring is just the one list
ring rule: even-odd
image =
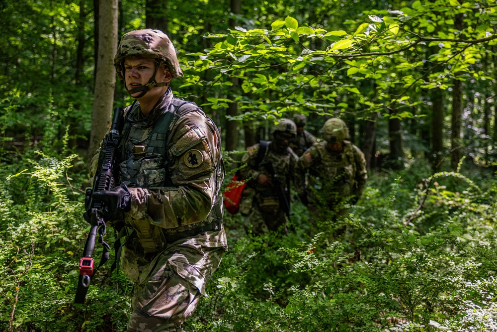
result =
[{"label": "camouflage sleeve with round patch on the foreground soldier's arm", "polygon": [[218,194],[216,165],[221,158],[213,125],[200,110],[173,124],[167,146],[173,187],[129,188],[132,218],[172,228],[207,217]]}]

